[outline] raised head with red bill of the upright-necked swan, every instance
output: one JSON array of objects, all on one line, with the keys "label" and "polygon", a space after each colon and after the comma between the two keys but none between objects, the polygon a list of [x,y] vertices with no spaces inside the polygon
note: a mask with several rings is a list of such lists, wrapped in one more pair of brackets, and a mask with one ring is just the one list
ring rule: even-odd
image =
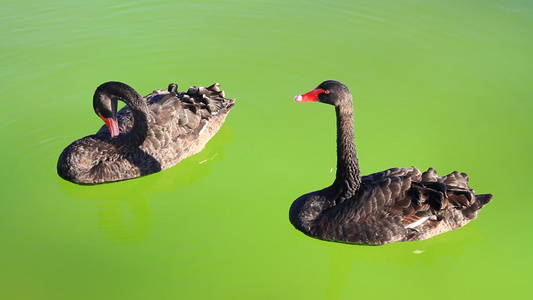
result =
[{"label": "raised head with red bill of the upright-necked swan", "polygon": [[315,89],[294,97],[296,102],[322,102],[333,106],[342,106],[352,103],[352,94],[348,87],[336,80],[326,80]]}]

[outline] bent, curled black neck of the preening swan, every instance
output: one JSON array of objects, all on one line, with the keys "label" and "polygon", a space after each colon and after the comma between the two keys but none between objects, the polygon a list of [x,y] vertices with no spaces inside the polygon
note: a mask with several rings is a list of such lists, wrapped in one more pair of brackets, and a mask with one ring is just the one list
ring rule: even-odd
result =
[{"label": "bent, curled black neck of the preening swan", "polygon": [[98,88],[95,97],[107,97],[115,102],[121,100],[128,105],[133,116],[133,126],[126,134],[119,135],[117,142],[127,148],[139,147],[148,135],[148,106],[141,95],[124,83],[108,82]]}]

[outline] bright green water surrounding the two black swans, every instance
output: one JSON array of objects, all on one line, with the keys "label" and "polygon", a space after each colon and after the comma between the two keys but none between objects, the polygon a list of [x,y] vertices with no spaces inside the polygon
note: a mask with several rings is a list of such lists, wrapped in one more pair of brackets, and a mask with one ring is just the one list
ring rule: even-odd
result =
[{"label": "bright green water surrounding the two black swans", "polygon": [[[2,1],[1,299],[517,299],[531,293],[530,1]],[[308,238],[292,201],[329,185],[325,79],[355,97],[363,174],[467,172],[494,200],[421,242]],[[63,148],[102,125],[94,89],[220,82],[203,152],[78,186]]]}]

